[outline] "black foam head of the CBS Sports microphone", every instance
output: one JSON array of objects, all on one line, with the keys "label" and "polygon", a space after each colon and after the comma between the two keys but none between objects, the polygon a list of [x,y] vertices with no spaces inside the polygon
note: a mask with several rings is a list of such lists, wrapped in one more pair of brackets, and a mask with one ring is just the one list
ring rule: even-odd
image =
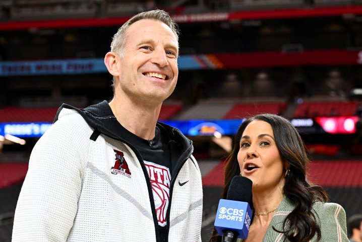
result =
[{"label": "black foam head of the CBS Sports microphone", "polygon": [[249,178],[235,176],[231,180],[226,199],[250,203],[252,201],[252,187],[253,182]]}]

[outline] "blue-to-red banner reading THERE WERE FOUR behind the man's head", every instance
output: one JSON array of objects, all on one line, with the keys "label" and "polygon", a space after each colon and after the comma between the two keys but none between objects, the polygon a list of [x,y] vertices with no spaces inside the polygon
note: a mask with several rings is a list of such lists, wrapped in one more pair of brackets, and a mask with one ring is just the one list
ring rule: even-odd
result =
[{"label": "blue-to-red banner reading THERE WERE FOUR behind the man's head", "polygon": [[[177,60],[179,70],[260,68],[303,65],[358,65],[362,64],[362,51],[346,49],[304,50],[253,53],[215,53],[183,55]],[[56,75],[106,73],[103,58],[0,61],[0,76]]]}]

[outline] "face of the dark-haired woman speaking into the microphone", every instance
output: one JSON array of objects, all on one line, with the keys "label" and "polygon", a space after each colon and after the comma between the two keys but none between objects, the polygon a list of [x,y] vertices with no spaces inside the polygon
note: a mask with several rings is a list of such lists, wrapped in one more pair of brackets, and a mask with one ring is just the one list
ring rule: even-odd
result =
[{"label": "face of the dark-haired woman speaking into the microphone", "polygon": [[248,124],[239,148],[237,162],[242,176],[253,181],[253,191],[284,186],[284,166],[269,123],[254,120]]}]

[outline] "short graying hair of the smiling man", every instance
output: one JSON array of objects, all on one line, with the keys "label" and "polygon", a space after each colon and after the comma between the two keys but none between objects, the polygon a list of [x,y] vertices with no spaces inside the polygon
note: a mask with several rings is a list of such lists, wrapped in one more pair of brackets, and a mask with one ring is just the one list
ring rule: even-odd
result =
[{"label": "short graying hair of the smiling man", "polygon": [[143,19],[151,19],[158,20],[162,23],[166,24],[176,36],[176,40],[178,42],[178,26],[174,22],[174,20],[169,16],[169,14],[163,10],[151,10],[147,12],[139,13],[129,19],[125,24],[122,25],[114,34],[112,43],[110,44],[110,51],[119,55],[120,58],[125,56],[125,43],[126,43],[126,31],[133,23],[143,20]]}]

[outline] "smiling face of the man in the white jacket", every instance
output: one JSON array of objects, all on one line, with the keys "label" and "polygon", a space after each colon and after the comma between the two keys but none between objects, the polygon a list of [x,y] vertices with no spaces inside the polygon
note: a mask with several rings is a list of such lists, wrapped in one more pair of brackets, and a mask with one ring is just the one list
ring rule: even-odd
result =
[{"label": "smiling face of the man in the white jacket", "polygon": [[163,102],[178,77],[176,36],[164,23],[146,19],[128,28],[125,43],[116,92],[145,105]]}]

